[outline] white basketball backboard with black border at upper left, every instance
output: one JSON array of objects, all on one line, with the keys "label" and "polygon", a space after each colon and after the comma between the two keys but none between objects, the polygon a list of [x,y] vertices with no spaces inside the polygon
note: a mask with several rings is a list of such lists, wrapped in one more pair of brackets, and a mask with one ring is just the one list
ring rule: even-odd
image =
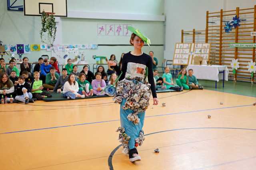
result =
[{"label": "white basketball backboard with black border at upper left", "polygon": [[67,17],[67,0],[24,0],[25,16],[41,16],[43,11]]}]

